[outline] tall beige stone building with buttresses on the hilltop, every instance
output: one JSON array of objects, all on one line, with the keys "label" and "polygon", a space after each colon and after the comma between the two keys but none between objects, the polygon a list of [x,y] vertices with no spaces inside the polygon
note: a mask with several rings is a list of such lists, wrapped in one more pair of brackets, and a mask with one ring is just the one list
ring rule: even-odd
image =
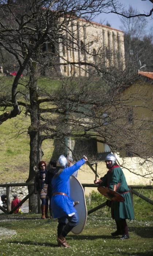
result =
[{"label": "tall beige stone building with buttresses on the hilltop", "polygon": [[[60,63],[65,63],[61,66],[64,76],[88,76],[96,63],[109,67],[124,60],[124,37],[121,30],[77,19],[69,21],[64,33],[66,43],[61,42],[59,49]],[[67,65],[68,62],[73,65]]]}]

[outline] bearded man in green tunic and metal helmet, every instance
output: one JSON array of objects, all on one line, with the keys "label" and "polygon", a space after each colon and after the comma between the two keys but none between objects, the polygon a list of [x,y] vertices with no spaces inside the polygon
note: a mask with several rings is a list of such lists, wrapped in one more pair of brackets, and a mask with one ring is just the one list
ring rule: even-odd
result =
[{"label": "bearded man in green tunic and metal helmet", "polygon": [[94,181],[95,184],[100,184],[102,187],[113,189],[120,193],[125,201],[111,201],[111,216],[115,219],[117,230],[111,233],[112,236],[122,235],[121,240],[129,238],[129,231],[126,219],[134,219],[133,205],[129,187],[125,179],[125,175],[119,165],[116,164],[116,157],[113,154],[108,154],[106,157],[106,166],[109,169],[104,177]]}]

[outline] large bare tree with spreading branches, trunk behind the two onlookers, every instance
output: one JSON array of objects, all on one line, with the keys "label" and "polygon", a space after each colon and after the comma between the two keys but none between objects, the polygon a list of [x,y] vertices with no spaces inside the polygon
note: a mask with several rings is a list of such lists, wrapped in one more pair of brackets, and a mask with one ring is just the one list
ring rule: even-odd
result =
[{"label": "large bare tree with spreading branches, trunk behind the two onlookers", "polygon": [[[21,107],[26,109],[26,114],[30,114],[30,170],[27,181],[34,180],[33,167],[42,157],[41,144],[45,139],[58,139],[64,143],[66,136],[96,138],[114,150],[125,148],[123,139],[128,145],[130,139],[138,145],[140,141],[134,131],[142,138],[142,130],[146,129],[146,125],[142,125],[144,120],[139,120],[141,125],[137,130],[133,126],[129,127],[124,110],[129,107],[127,99],[119,99],[125,84],[129,84],[136,77],[135,71],[132,74],[129,72],[129,69],[132,70],[131,66],[127,65],[123,70],[121,59],[121,65],[117,64],[116,69],[111,66],[108,68],[108,65],[101,64],[101,60],[104,63],[107,57],[102,54],[97,54],[99,61],[96,63],[86,59],[70,62],[63,54],[66,49],[89,54],[88,45],[80,44],[77,36],[77,20],[83,18],[86,21],[85,26],[88,26],[94,15],[104,9],[113,10],[114,4],[118,8],[118,1],[27,0],[22,4],[21,1],[0,3],[1,60],[4,59],[3,53],[7,52],[15,60],[18,71],[12,83],[12,92],[4,93],[0,100],[0,106],[4,109],[7,106],[13,109],[0,116],[0,121],[3,123],[8,118],[17,116]],[[82,25],[78,26],[81,28]],[[46,43],[47,46],[50,45],[50,49],[43,50]],[[88,76],[77,80],[74,76],[63,78],[59,67],[68,65],[85,69]],[[44,70],[49,75],[54,71],[61,79],[60,89],[48,92],[47,87],[42,89],[38,86],[38,78]],[[25,71],[29,74],[27,81],[21,79]],[[108,115],[107,120],[103,118],[104,113]],[[126,131],[122,137],[121,131]],[[131,150],[133,154],[142,156],[136,146]],[[31,188],[28,189],[30,192]],[[35,199],[33,195],[29,205],[29,209],[34,212],[37,211]]]}]

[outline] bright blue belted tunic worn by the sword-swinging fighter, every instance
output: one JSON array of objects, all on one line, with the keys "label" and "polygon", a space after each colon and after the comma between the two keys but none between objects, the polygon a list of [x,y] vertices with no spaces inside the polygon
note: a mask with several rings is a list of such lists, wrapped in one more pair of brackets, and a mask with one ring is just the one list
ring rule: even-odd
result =
[{"label": "bright blue belted tunic worn by the sword-swinging fighter", "polygon": [[54,195],[51,198],[51,208],[54,218],[64,217],[68,214],[76,212],[73,205],[73,200],[70,198],[70,176],[78,170],[85,163],[84,159],[81,159],[73,166],[66,167],[59,176],[54,176],[51,182],[52,192],[62,192],[64,195]]}]

